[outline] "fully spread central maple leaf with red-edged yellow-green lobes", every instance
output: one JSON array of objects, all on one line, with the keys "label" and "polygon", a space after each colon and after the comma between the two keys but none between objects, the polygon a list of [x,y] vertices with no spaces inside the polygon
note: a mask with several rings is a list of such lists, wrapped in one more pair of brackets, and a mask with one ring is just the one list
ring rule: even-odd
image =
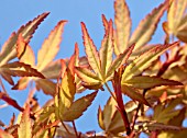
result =
[{"label": "fully spread central maple leaf with red-edged yellow-green lobes", "polygon": [[[92,39],[90,38],[86,25],[81,23],[82,38],[88,62],[91,69],[87,67],[76,67],[75,72],[88,89],[102,89],[102,84],[111,80],[114,70],[125,64],[131,55],[134,45],[129,47],[122,54],[112,60],[113,55],[113,28],[112,21],[107,22],[102,15],[106,33],[98,51]],[[107,25],[108,24],[108,25]],[[108,28],[107,28],[108,27]]]}]

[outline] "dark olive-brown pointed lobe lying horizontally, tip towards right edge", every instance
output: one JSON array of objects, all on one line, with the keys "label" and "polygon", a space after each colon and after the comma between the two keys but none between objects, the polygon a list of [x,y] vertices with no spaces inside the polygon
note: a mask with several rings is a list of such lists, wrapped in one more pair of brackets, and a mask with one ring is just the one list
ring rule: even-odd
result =
[{"label": "dark olive-brown pointed lobe lying horizontally, tip towards right edge", "polygon": [[151,89],[160,85],[183,85],[183,83],[178,81],[148,76],[133,77],[129,80],[122,81],[121,83],[138,89]]}]

